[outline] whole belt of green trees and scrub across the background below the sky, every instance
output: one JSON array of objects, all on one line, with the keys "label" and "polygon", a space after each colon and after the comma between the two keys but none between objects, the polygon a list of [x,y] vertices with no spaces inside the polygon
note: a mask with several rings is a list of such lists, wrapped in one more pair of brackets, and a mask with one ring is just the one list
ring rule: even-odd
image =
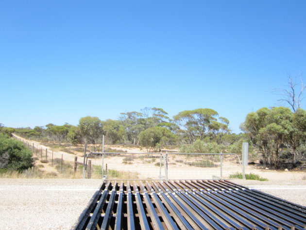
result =
[{"label": "whole belt of green trees and scrub across the background below the sky", "polygon": [[305,87],[301,85],[297,92],[298,84],[289,78],[289,88],[278,90],[287,92],[287,97],[280,101],[288,102],[289,107],[263,107],[247,114],[239,134],[230,130],[227,118],[211,108],[184,110],[170,118],[162,108],[145,107],[121,113],[118,120],[83,117],[76,126],[66,123],[10,128],[0,124],[0,169],[20,171],[32,165],[31,153],[8,138],[13,132],[63,151],[70,151],[66,147],[72,145],[82,150],[85,142],[92,151],[102,151],[102,135],[106,144],[141,147],[148,153],[177,147],[182,153],[222,152],[241,156],[242,142],[248,142],[251,161],[274,169],[300,167],[306,163],[306,111],[300,107]]}]

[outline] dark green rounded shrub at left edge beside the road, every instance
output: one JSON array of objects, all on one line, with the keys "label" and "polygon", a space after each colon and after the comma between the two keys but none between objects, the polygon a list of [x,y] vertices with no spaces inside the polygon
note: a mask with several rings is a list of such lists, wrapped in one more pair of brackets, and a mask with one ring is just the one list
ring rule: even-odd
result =
[{"label": "dark green rounded shrub at left edge beside the road", "polygon": [[32,166],[32,152],[22,142],[0,134],[0,169],[21,172]]}]

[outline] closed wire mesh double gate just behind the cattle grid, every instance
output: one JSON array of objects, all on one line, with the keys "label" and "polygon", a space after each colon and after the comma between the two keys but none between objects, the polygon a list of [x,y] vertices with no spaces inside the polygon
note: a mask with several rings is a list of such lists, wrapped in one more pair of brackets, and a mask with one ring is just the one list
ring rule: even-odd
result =
[{"label": "closed wire mesh double gate just behind the cattle grid", "polygon": [[236,154],[88,153],[84,178],[217,179],[242,172]]}]

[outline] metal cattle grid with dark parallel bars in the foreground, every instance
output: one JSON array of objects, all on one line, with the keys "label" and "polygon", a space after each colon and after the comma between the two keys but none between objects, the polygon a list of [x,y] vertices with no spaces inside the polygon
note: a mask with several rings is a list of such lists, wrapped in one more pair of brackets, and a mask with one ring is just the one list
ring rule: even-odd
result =
[{"label": "metal cattle grid with dark parallel bars in the foreground", "polygon": [[230,180],[107,181],[75,230],[306,230],[306,207]]}]

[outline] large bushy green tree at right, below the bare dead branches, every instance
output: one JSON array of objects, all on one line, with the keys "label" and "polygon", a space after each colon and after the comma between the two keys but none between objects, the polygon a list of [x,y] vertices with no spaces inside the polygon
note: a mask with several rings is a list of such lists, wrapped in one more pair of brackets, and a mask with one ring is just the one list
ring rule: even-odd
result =
[{"label": "large bushy green tree at right, below the bare dead branches", "polygon": [[243,129],[261,151],[264,163],[279,168],[280,158],[289,151],[294,159],[298,146],[305,145],[305,125],[299,126],[305,120],[303,109],[292,113],[286,107],[264,107],[247,115]]}]

